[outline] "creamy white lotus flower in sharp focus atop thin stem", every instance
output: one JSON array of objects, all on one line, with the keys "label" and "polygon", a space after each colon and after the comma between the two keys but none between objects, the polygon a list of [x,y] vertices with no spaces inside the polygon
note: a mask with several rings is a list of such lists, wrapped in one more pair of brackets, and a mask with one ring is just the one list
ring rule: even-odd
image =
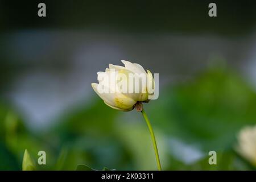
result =
[{"label": "creamy white lotus flower in sharp focus atop thin stem", "polygon": [[92,83],[94,91],[105,104],[122,111],[130,111],[139,102],[148,102],[154,95],[155,81],[150,71],[135,63],[122,60],[125,67],[109,64],[105,72],[98,72],[99,83]]}]

